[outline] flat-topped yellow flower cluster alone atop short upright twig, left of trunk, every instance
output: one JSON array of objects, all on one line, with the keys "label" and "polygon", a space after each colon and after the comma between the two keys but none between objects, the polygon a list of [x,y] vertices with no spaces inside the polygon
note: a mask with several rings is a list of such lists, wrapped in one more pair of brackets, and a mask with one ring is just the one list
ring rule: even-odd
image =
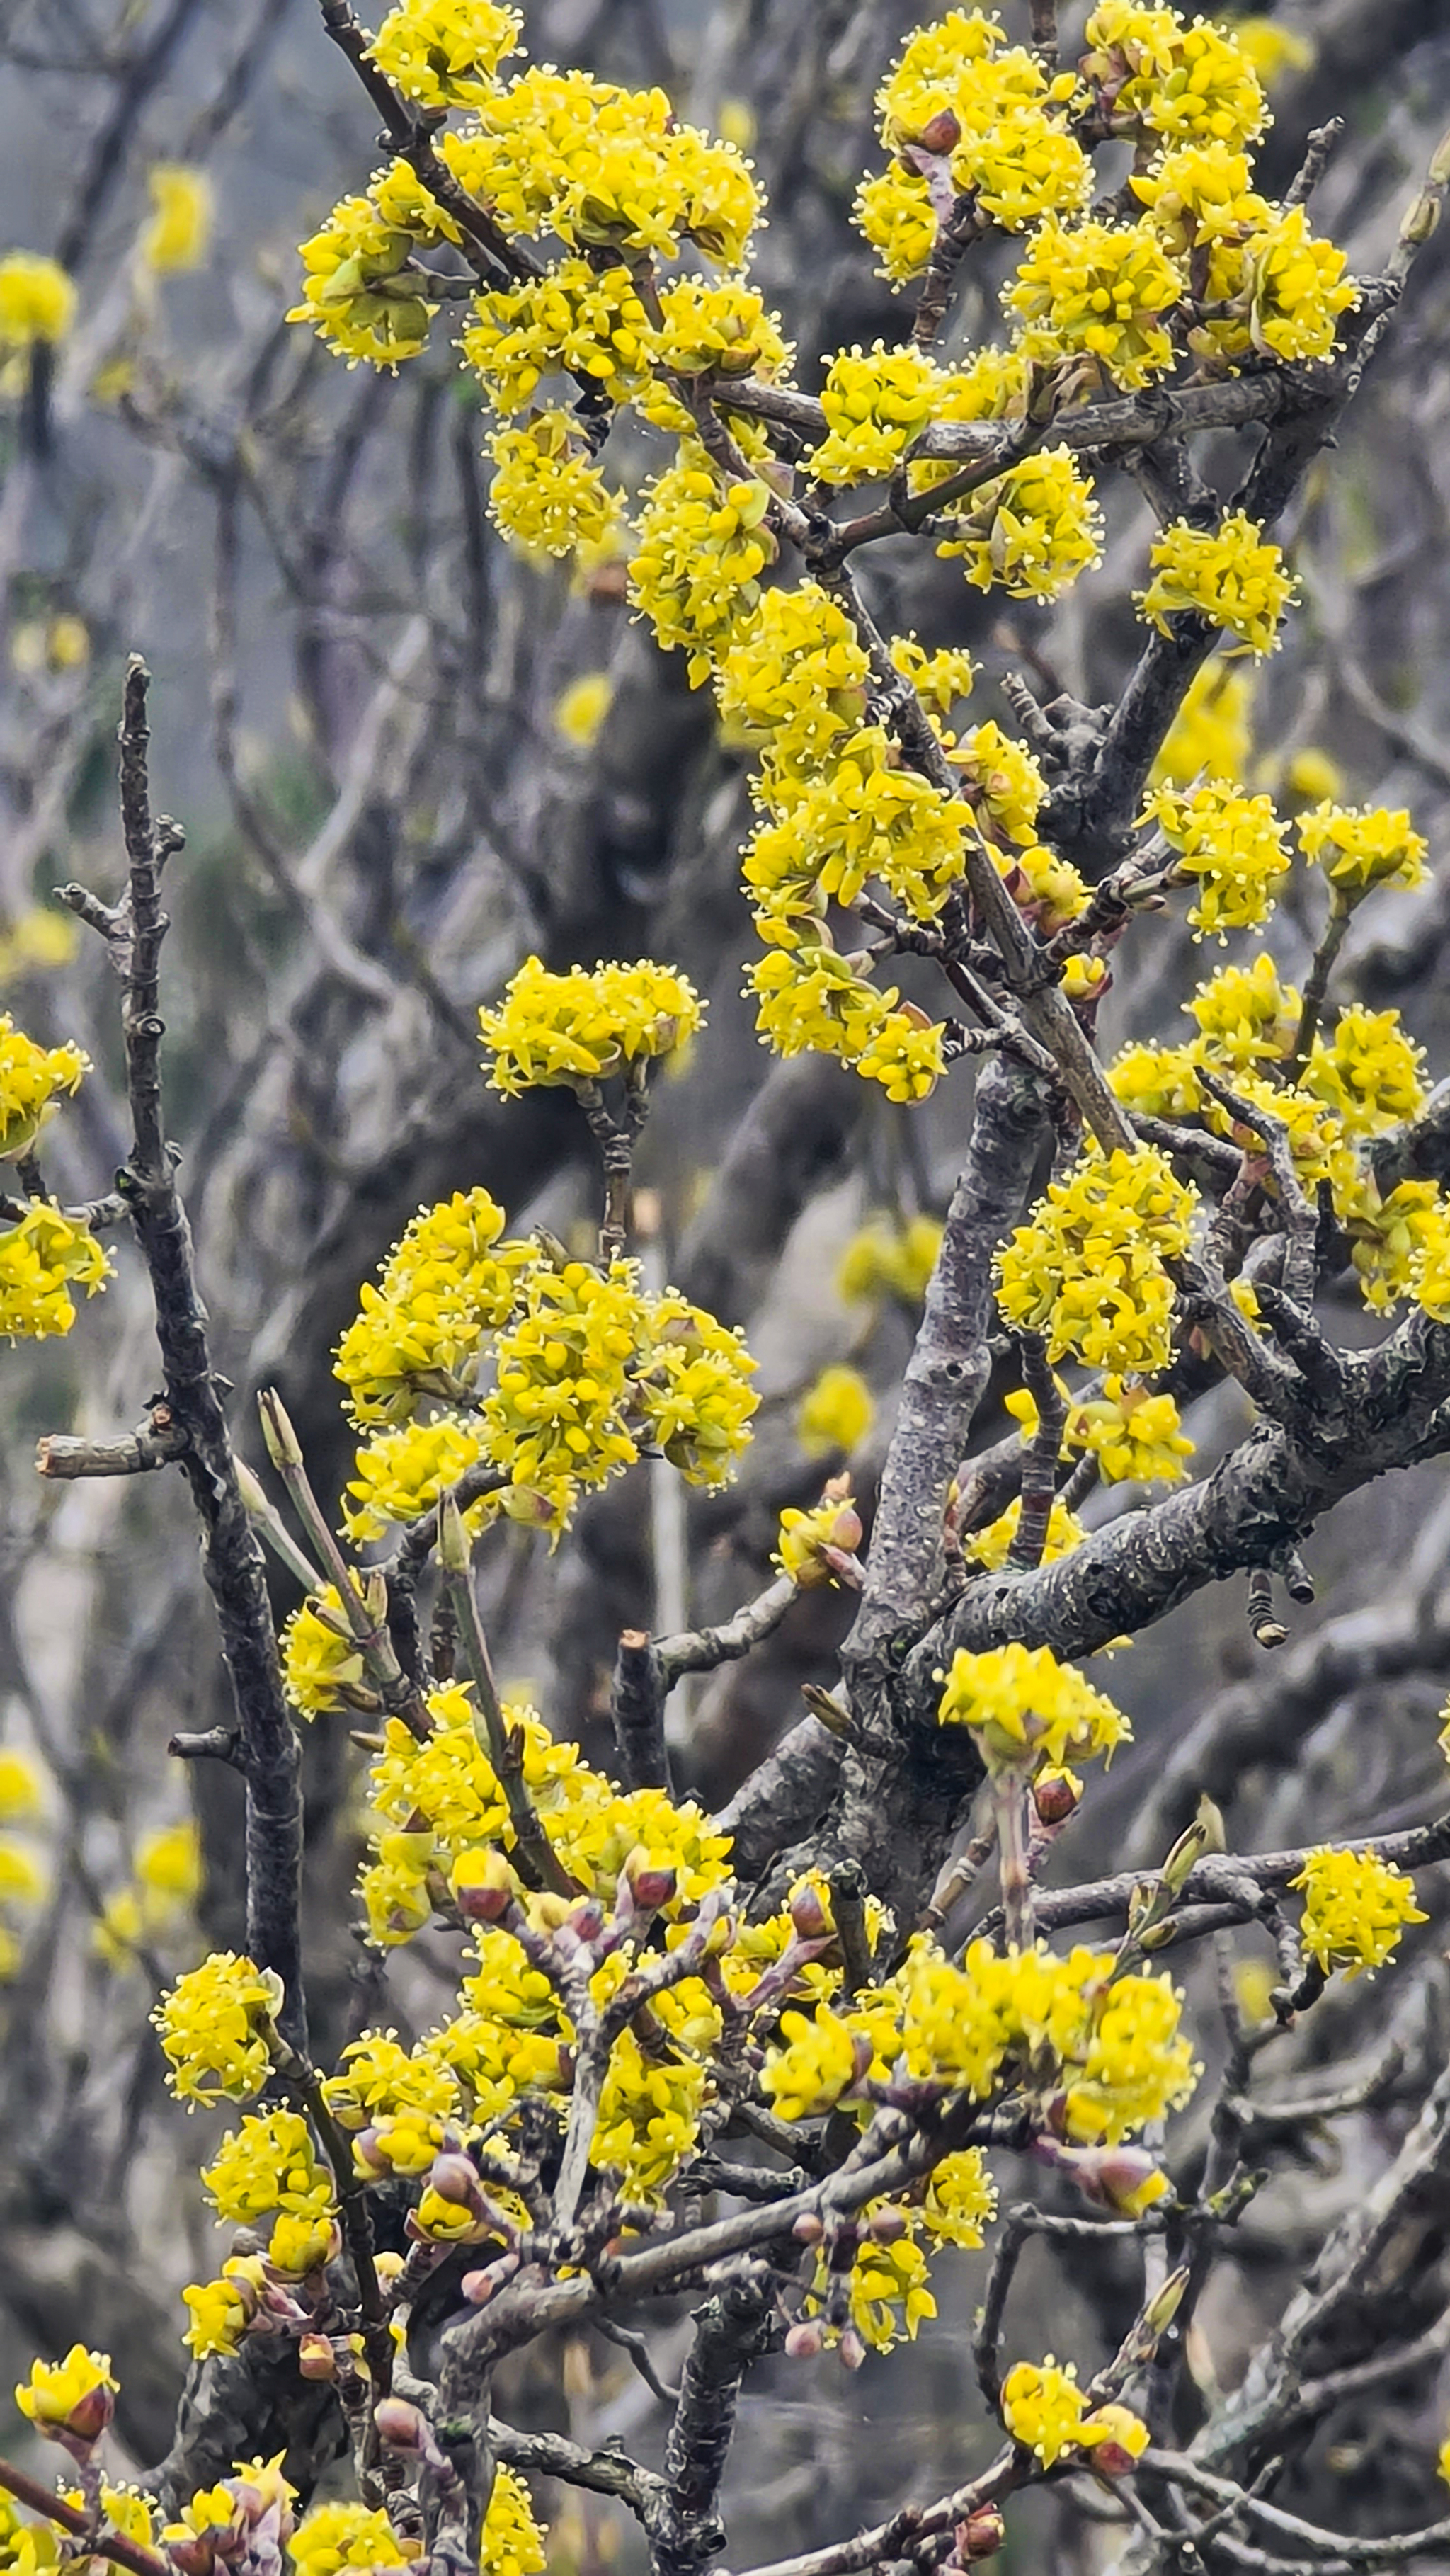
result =
[{"label": "flat-topped yellow flower cluster alone atop short upright twig, left of trunk", "polygon": [[479,1010],[489,1087],[510,1100],[536,1084],[605,1082],[626,1066],[672,1056],[701,1020],[693,984],[646,961],[549,974],[538,958],[525,958],[500,1010]]}]

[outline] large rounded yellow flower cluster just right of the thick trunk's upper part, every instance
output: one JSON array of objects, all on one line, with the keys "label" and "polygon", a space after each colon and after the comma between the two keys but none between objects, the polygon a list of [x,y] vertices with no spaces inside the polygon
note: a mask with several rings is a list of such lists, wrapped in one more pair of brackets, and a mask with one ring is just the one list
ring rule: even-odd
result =
[{"label": "large rounded yellow flower cluster just right of the thick trunk's upper part", "polygon": [[1002,1252],[1002,1314],[1053,1360],[1154,1376],[1172,1355],[1164,1260],[1187,1252],[1195,1206],[1162,1154],[1084,1154]]}]

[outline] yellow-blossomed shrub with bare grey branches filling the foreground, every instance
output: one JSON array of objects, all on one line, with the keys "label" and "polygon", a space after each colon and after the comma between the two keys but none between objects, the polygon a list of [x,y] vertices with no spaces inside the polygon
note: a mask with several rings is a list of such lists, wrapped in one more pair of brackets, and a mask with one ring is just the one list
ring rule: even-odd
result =
[{"label": "yellow-blossomed shrub with bare grey branches filling the foreground", "polygon": [[[1450,162],[1401,227],[1393,294],[1368,294],[1313,234],[1308,180],[1285,201],[1254,185],[1257,62],[1293,44],[1102,0],[1061,64],[1051,8],[1033,8],[1028,44],[953,8],[886,70],[886,165],[855,193],[883,276],[914,289],[909,337],[798,368],[752,265],[767,209],[739,142],[683,121],[662,88],[520,67],[525,18],[492,0],[399,0],[376,31],[330,0],[327,28],[384,116],[389,162],[301,245],[288,322],[350,368],[456,376],[497,538],[567,564],[590,603],[628,603],[685,657],[680,698],[713,693],[721,757],[749,762],[755,1028],[780,1059],[860,1077],[855,1103],[889,1144],[834,1267],[855,1340],[786,1396],[729,1311],[672,1285],[634,1188],[670,1074],[711,1043],[695,984],[667,961],[523,956],[476,1012],[469,1100],[479,1113],[487,1087],[489,1110],[523,1121],[525,1095],[564,1095],[598,1226],[559,1239],[515,1213],[510,1231],[487,1175],[425,1198],[355,1283],[332,1350],[343,1494],[319,1499],[270,1388],[263,1486],[232,1448],[165,1144],[160,884],[180,842],[149,811],[147,672],[129,665],[129,886],[118,907],[77,886],[64,899],[121,971],[134,1144],[108,1198],[62,1206],[52,1123],[75,1162],[67,1103],[93,1066],[41,1018],[41,1036],[0,1020],[0,1329],[70,1334],[72,1288],[93,1296],[118,1267],[100,1236],[131,1229],[162,1394],[129,1440],[52,1435],[41,1471],[180,1466],[198,1512],[234,1726],[175,1741],[242,1775],[245,1942],[162,1958],[152,2020],[173,2097],[203,2125],[237,2107],[201,2148],[232,2233],[180,2295],[196,2375],[144,2491],[103,2478],[111,2357],[75,2342],[33,2362],[18,2411],[80,2486],[52,2494],[0,2463],[0,2491],[33,2514],[5,2504],[0,2561],[538,2576],[533,2473],[623,2499],[659,2576],[695,2576],[726,2545],[716,2506],[747,2367],[824,2352],[860,2367],[914,2342],[963,2251],[992,2264],[974,2339],[986,2465],[909,2524],[791,2568],[842,2576],[904,2548],[963,2568],[999,2548],[1020,2488],[1069,2476],[1107,2494],[1131,2481],[1141,2530],[1169,2530],[1195,2563],[1236,2524],[1254,2535],[1244,2563],[1283,2563],[1265,2535],[1332,2553],[1332,2532],[1267,2504],[1295,2447],[1280,2432],[1368,2385],[1329,2339],[1313,2396],[1301,2344],[1329,2324],[1329,2269],[1313,2269],[1313,2324],[1290,2313],[1239,2396],[1198,2367],[1192,2311],[1265,2182],[1259,2148],[1301,2117],[1257,2102],[1257,2045],[1334,1976],[1396,1960],[1429,1919],[1414,1870],[1447,1857],[1450,1819],[1234,1855],[1205,1798],[1123,1873],[1064,1886],[1046,1865],[1102,1795],[1071,1765],[1133,1747],[1082,1667],[1239,1571],[1252,1638],[1280,1643],[1272,1579],[1306,1597],[1313,1522],[1450,1445],[1437,1095],[1398,1010],[1334,984],[1355,914],[1419,886],[1427,840],[1406,809],[1339,804],[1324,755],[1249,775],[1241,657],[1280,641],[1295,574],[1270,533],[1272,474],[1254,464],[1229,500],[1190,451],[1252,428],[1277,459],[1288,425],[1303,469],[1435,229]],[[147,193],[134,278],[198,268],[203,173],[157,162]],[[943,325],[979,247],[1002,268],[1002,337],[956,350]],[[0,260],[0,345],[31,389],[72,299],[54,263]],[[1123,453],[1159,515],[1138,549],[1133,683],[1118,708],[1038,706],[1012,672],[994,703],[1017,739],[984,708],[974,657],[896,634],[891,587],[863,567],[881,544],[919,544],[961,564],[963,598],[1053,603],[1102,574],[1100,484]],[[482,492],[471,533],[482,549]],[[36,636],[26,652],[54,675],[85,667],[85,629]],[[574,670],[543,732],[579,765],[628,708],[618,670]],[[294,886],[304,909],[314,876]],[[1218,943],[1275,925],[1288,945],[1308,925],[1301,981],[1277,948],[1241,948],[1198,984],[1192,1036],[1105,1064],[1120,953],[1174,904]],[[46,961],[23,922],[8,943],[15,974]],[[958,1097],[966,1056],[986,1064],[961,1110],[961,1182],[927,1208],[901,1136],[932,1092]],[[1352,1347],[1316,1319],[1319,1288],[1360,1298]],[[994,1365],[1017,1430],[971,1450]],[[1195,1476],[1185,1422],[1223,1386],[1239,1432]],[[500,1589],[536,1582],[541,1548],[587,1530],[628,1476],[659,1540],[680,1486],[719,1499],[749,1473],[757,1417],[796,1479],[762,1517],[770,1582],[713,1628],[621,1633],[613,1757],[585,1736],[603,1692],[598,1710],[543,1713],[531,1687],[500,1687],[474,1551]],[[816,1476],[850,1458],[855,1489],[798,1481],[801,1458]],[[281,1618],[263,1546],[291,1584]],[[850,1597],[840,1687],[809,1682],[809,1721],[713,1816],[672,1777],[670,1692],[762,1646],[804,1595],[816,1613]],[[306,2017],[299,1721],[332,1728],[335,1767],[343,1739],[361,1757],[368,2002],[327,2053]],[[44,1816],[39,1767],[0,1757],[5,1976],[23,1973],[46,1899]],[[95,1901],[98,1968],[149,1973],[198,1886],[191,1824],[147,1837]],[[1226,2048],[1180,1984],[1208,1935],[1267,1940],[1275,1960],[1262,2030],[1221,1976]],[[1303,2120],[1378,2102],[1404,2074],[1396,2050],[1388,2076],[1313,2097]],[[1025,2159],[1064,2205],[1004,2205]],[[1344,2254],[1355,2298],[1393,2190],[1378,2187],[1373,2241]],[[1089,2244],[1087,2269],[1102,2239],[1141,2272],[1120,2275],[1118,2344],[1084,2354],[1082,2383],[1077,2360],[1004,2365],[1033,2233]],[[494,2378],[513,2352],[598,2326],[639,2354],[626,2311],[654,2300],[698,2300],[680,2388],[641,2365],[672,2406],[664,2468],[613,2437],[590,2452],[492,2416],[515,2398]],[[1218,2409],[1182,2455],[1167,2447],[1180,2352],[1195,2421]],[[252,2458],[232,2424],[255,2432]],[[350,2494],[317,2501],[343,2455],[332,2483]],[[1172,2524],[1151,2506],[1164,2486]],[[1383,2555],[1409,2561],[1417,2537],[1429,2558],[1442,2532]]]}]

